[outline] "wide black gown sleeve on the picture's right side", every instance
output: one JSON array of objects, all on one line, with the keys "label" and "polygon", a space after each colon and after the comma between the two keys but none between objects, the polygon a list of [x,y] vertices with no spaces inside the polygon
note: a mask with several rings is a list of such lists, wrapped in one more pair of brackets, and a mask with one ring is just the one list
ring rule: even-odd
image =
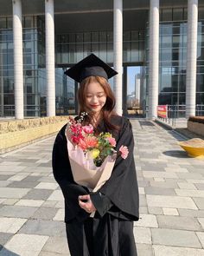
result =
[{"label": "wide black gown sleeve on the picture's right side", "polygon": [[[118,155],[112,170],[112,175],[105,185],[96,194],[104,194],[108,200],[101,205],[101,213],[110,209],[109,202],[121,212],[130,216],[131,220],[138,220],[139,196],[137,187],[137,174],[134,161],[134,137],[132,134],[131,122],[122,118],[122,128],[118,135],[116,150],[124,145],[128,148],[129,154],[126,159]],[[98,196],[99,197],[99,196]],[[93,202],[94,204],[94,202]],[[97,207],[96,207],[97,208]]]}]

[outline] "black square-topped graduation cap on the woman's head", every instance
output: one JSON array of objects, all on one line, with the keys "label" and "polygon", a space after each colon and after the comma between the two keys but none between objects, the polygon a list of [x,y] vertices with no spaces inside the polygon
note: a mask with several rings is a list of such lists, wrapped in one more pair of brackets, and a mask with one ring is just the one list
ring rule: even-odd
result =
[{"label": "black square-topped graduation cap on the woman's head", "polygon": [[88,76],[102,76],[108,80],[112,76],[117,75],[118,72],[99,59],[98,56],[91,54],[76,63],[72,68],[67,69],[65,74],[77,82],[82,82]]}]

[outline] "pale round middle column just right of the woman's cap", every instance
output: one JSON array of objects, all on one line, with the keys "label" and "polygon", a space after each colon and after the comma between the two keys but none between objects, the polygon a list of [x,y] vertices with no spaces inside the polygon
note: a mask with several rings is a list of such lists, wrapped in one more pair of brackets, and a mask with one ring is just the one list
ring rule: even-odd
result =
[{"label": "pale round middle column just right of the woman's cap", "polygon": [[113,62],[118,75],[114,76],[115,110],[118,115],[122,110],[123,89],[123,0],[113,0]]}]

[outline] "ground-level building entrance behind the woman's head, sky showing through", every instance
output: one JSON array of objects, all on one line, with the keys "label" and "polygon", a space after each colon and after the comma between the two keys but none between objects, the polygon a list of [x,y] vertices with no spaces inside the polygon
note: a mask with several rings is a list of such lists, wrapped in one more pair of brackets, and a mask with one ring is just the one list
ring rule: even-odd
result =
[{"label": "ground-level building entrance behind the woman's head, sky showing through", "polygon": [[[63,69],[63,72],[66,68]],[[59,70],[59,69],[58,69]],[[140,65],[126,66],[123,69],[123,113],[131,116],[145,115],[145,75],[144,67]],[[56,75],[56,115],[77,115],[78,100],[77,90],[79,84],[73,79],[64,75],[64,79],[57,79]],[[59,77],[62,78],[62,77]],[[63,82],[61,82],[62,80]],[[114,79],[111,78],[109,83],[114,92]],[[59,86],[61,84],[61,86]]]}]

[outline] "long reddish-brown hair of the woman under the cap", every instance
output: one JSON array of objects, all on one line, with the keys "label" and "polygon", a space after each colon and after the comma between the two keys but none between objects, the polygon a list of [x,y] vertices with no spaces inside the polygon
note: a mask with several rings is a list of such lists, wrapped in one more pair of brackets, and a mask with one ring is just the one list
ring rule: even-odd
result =
[{"label": "long reddish-brown hair of the woman under the cap", "polygon": [[[105,126],[113,132],[118,132],[118,126],[112,124],[111,118],[113,115],[117,115],[116,112],[114,111],[114,107],[116,104],[116,99],[115,96],[113,95],[112,89],[110,84],[106,81],[104,77],[101,76],[89,76],[86,77],[81,83],[80,83],[80,89],[78,90],[78,101],[80,103],[80,114],[83,112],[87,112],[87,107],[86,107],[86,91],[87,91],[87,86],[91,82],[99,82],[101,87],[105,91],[106,95],[106,102],[103,108],[101,109],[102,115],[101,118],[105,122]],[[92,122],[92,115],[86,115],[85,119],[86,123]]]}]

